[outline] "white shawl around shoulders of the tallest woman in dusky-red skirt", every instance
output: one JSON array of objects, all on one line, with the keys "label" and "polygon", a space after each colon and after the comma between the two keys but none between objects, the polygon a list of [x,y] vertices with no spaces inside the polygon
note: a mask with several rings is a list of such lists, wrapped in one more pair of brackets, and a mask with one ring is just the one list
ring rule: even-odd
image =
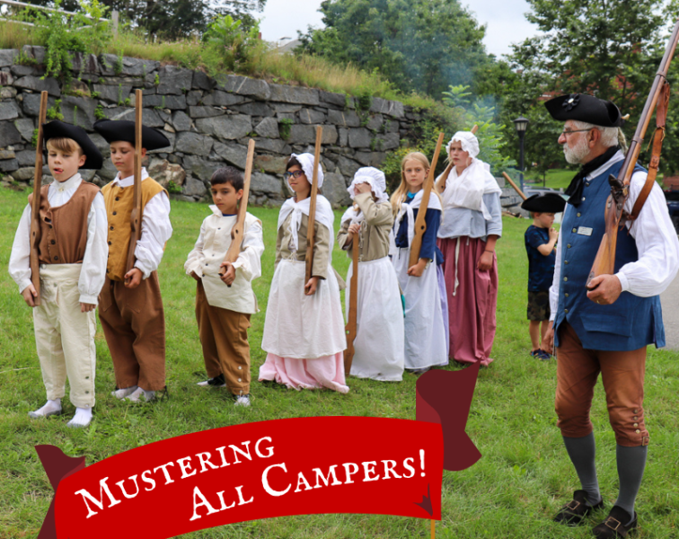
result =
[{"label": "white shawl around shoulders of the tallest woman in dusky-red skirt", "polygon": [[[483,202],[483,195],[502,192],[498,182],[490,173],[489,164],[473,159],[472,164],[465,168],[460,176],[457,175],[457,170],[453,165],[449,165],[446,171],[448,174],[445,190],[441,195],[444,208],[469,208],[480,211],[483,218],[489,221],[492,216]],[[445,173],[444,171],[438,179],[443,178]]]}]

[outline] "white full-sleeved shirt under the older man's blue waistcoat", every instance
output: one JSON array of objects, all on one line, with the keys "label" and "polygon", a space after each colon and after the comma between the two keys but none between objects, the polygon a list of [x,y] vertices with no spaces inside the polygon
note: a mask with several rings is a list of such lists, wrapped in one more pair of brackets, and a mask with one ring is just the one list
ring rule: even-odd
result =
[{"label": "white full-sleeved shirt under the older man's blue waistcoat", "polygon": [[[622,151],[618,151],[606,163],[586,176],[591,180],[604,173],[614,163],[625,158]],[[625,211],[631,212],[639,192],[646,183],[646,172],[634,172],[630,181],[630,196],[625,202]],[[577,211],[567,204],[566,212]],[[601,208],[604,211],[604,208]],[[639,260],[622,266],[615,274],[620,279],[622,292],[630,292],[634,296],[657,296],[665,291],[676,276],[679,267],[679,241],[676,237],[675,226],[672,224],[663,191],[656,183],[648,194],[648,199],[633,222],[626,223],[631,236],[637,243]],[[561,275],[561,258],[563,252],[561,242],[557,244],[556,263],[554,265],[554,280],[550,288],[550,320],[556,317],[559,307],[559,286]]]}]

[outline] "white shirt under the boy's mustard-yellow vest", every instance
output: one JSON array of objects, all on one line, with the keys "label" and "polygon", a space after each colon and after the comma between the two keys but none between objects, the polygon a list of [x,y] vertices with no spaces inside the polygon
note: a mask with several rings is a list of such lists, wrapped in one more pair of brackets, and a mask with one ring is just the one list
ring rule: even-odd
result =
[{"label": "white shirt under the boy's mustard-yellow vest", "polygon": [[[142,181],[148,178],[148,172],[142,167]],[[134,175],[120,179],[120,172],[110,182],[113,187],[119,184],[120,187],[131,187],[135,184]],[[172,237],[172,224],[170,223],[170,199],[167,198],[165,191],[160,191],[152,199],[146,202],[142,213],[142,234],[135,248],[135,268],[142,272],[143,278],[149,275],[160,266],[163,260],[165,243]]]}]

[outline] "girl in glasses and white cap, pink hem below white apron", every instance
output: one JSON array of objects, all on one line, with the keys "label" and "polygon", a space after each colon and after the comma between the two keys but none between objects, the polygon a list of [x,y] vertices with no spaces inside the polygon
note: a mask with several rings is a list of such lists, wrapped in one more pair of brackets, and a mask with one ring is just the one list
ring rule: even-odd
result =
[{"label": "girl in glasses and white cap, pink hem below white apron", "polygon": [[[347,338],[340,286],[331,266],[334,214],[328,199],[319,193],[312,278],[304,282],[313,155],[291,155],[285,176],[294,197],[286,200],[278,215],[276,270],[261,342],[267,359],[259,379],[297,390],[327,387],[348,393],[343,354]],[[319,188],[322,183],[319,163]]]}]

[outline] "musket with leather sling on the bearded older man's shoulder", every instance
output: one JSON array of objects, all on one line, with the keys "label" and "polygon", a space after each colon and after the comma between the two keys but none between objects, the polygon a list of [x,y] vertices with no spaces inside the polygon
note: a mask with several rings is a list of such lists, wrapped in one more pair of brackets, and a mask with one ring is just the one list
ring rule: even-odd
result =
[{"label": "musket with leather sling on the bearded older man's shoulder", "polygon": [[[625,202],[630,194],[630,181],[632,173],[634,172],[634,165],[639,159],[639,152],[641,145],[648,129],[653,111],[656,110],[661,93],[666,92],[665,86],[667,84],[667,72],[669,70],[670,62],[674,57],[675,49],[679,40],[679,20],[675,23],[675,30],[672,32],[665,55],[663,56],[660,66],[658,67],[656,78],[651,86],[651,91],[648,94],[648,99],[644,105],[644,110],[641,112],[637,130],[631,140],[630,149],[625,155],[625,161],[622,164],[622,169],[616,178],[611,174],[608,182],[611,184],[611,195],[606,200],[605,208],[605,233],[601,239],[599,250],[596,252],[596,258],[592,265],[592,270],[589,272],[586,286],[589,287],[590,281],[599,275],[612,275],[615,268],[615,249],[618,240],[618,231],[628,220],[628,215],[624,211]],[[657,163],[656,163],[657,164]],[[647,186],[648,190],[652,187]],[[648,196],[648,190],[645,189],[646,194],[641,199],[641,203]],[[642,191],[643,193],[644,191]],[[641,194],[639,194],[641,198]],[[635,209],[636,206],[635,206]],[[640,207],[639,207],[640,211]],[[634,212],[633,212],[634,213]]]}]

